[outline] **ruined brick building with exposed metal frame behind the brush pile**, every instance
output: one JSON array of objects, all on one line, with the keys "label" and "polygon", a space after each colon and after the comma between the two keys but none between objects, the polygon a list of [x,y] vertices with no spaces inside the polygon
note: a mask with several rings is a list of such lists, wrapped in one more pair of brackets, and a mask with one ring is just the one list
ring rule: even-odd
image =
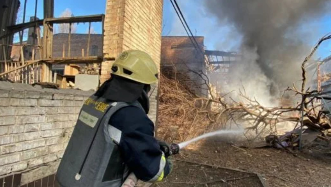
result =
[{"label": "ruined brick building with exposed metal frame behind the brush pile", "polygon": [[161,72],[169,78],[176,75],[193,93],[207,98],[207,84],[220,92],[227,84],[230,67],[240,63],[242,56],[237,52],[205,50],[204,37],[195,36],[200,51],[192,44],[192,38],[162,37]]}]

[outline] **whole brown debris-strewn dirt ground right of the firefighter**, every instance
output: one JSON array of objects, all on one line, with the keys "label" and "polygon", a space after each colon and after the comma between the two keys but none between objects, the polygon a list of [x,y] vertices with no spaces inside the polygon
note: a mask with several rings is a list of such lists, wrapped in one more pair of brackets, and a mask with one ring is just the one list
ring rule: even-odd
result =
[{"label": "whole brown debris-strewn dirt ground right of the firefighter", "polygon": [[263,186],[255,174],[203,165],[209,164],[259,173],[268,187],[331,187],[330,157],[315,157],[298,151],[295,154],[297,156],[275,148],[239,148],[224,142],[206,141],[174,156],[171,175],[153,186]]}]

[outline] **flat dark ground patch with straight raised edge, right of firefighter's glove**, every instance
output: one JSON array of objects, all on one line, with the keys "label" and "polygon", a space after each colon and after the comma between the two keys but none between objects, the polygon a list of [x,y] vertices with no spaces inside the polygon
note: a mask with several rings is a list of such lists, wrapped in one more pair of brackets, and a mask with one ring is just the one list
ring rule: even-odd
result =
[{"label": "flat dark ground patch with straight raised edge, right of firefighter's glove", "polygon": [[263,187],[255,173],[183,160],[174,160],[173,164],[171,175],[155,187]]}]

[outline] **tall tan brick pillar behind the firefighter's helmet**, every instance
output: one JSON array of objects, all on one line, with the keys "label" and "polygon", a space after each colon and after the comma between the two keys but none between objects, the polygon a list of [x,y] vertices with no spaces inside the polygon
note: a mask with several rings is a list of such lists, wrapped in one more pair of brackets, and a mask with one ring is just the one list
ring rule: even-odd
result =
[{"label": "tall tan brick pillar behind the firefighter's helmet", "polygon": [[[163,0],[107,0],[104,46],[105,59],[138,49],[150,54],[160,67]],[[110,77],[112,61],[101,65],[101,82]],[[157,85],[152,85],[149,117],[155,122]],[[155,89],[154,89],[155,88]]]}]

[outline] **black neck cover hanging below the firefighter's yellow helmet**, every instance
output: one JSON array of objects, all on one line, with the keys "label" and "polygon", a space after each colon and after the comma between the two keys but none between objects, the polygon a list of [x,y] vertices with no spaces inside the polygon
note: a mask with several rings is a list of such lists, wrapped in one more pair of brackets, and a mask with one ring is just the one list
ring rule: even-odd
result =
[{"label": "black neck cover hanging below the firefighter's yellow helmet", "polygon": [[144,108],[145,113],[148,114],[149,98],[147,94],[150,88],[148,84],[112,74],[112,77],[104,82],[94,95],[111,101],[126,103],[132,103],[138,100]]}]

